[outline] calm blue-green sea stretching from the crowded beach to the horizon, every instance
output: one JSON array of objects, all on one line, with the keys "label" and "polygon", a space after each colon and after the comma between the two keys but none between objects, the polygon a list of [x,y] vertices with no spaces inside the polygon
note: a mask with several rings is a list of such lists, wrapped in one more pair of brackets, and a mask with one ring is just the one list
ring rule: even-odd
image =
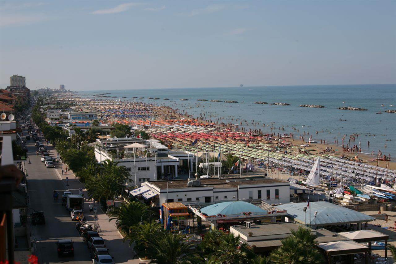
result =
[{"label": "calm blue-green sea stretching from the crowded beach to the horizon", "polygon": [[[294,138],[299,138],[305,132],[305,140],[312,135],[318,142],[326,140],[326,143],[335,143],[338,139],[339,145],[342,144],[343,135],[346,135],[345,145],[359,145],[361,141],[362,152],[371,154],[374,151],[374,155],[377,155],[378,150],[381,150],[383,155],[390,154],[392,160],[396,159],[392,158],[396,155],[396,113],[384,113],[385,110],[396,109],[396,84],[97,90],[82,91],[79,94],[93,96],[105,92],[110,93],[107,96],[117,98],[100,99],[121,98],[171,106],[194,117],[204,117],[214,122],[219,119],[219,122],[240,125],[241,121],[247,121],[247,124],[242,123],[247,130],[261,129],[275,134],[293,132]],[[132,99],[134,96],[145,99]],[[160,99],[148,99],[149,97]],[[238,103],[210,100],[233,100]],[[255,104],[255,101],[268,104]],[[276,102],[290,105],[269,105]],[[302,104],[323,105],[325,108],[299,107]],[[359,107],[368,111],[339,110],[338,107]],[[271,126],[275,129],[271,130]],[[358,134],[354,142],[349,142],[351,134]]]}]

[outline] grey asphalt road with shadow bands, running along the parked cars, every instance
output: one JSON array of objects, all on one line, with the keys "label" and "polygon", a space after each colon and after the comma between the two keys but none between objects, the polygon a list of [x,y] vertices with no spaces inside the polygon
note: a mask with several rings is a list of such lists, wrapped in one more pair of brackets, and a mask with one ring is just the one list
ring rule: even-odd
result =
[{"label": "grey asphalt road with shadow bands, running along the parked cars", "polygon": [[[26,130],[24,134],[26,134]],[[53,190],[64,190],[65,184],[59,180],[55,168],[46,168],[36,155],[37,147],[32,139],[27,141],[28,157],[31,164],[26,164],[29,174],[29,215],[33,210],[42,210],[46,218],[45,225],[32,227],[32,235],[36,239],[36,254],[40,263],[92,263],[85,242],[82,241],[77,230],[76,222],[72,222],[70,213],[61,206],[61,193],[58,201],[52,198]],[[54,153],[49,153],[54,155]],[[55,163],[55,166],[57,164]],[[74,191],[78,193],[78,191]],[[74,257],[58,257],[55,242],[58,239],[72,239],[74,241]]]}]

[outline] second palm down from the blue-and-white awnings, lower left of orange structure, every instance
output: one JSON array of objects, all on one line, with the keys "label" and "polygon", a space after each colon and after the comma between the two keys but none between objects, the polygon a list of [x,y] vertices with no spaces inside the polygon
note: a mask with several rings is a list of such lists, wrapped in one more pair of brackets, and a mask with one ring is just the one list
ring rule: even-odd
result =
[{"label": "second palm down from the blue-and-white awnings, lower left of orange structure", "polygon": [[138,251],[140,257],[152,258],[151,247],[164,230],[161,224],[156,221],[144,222],[143,225],[131,227],[131,231],[124,237],[124,242],[129,240],[129,246],[135,242],[135,251]]}]

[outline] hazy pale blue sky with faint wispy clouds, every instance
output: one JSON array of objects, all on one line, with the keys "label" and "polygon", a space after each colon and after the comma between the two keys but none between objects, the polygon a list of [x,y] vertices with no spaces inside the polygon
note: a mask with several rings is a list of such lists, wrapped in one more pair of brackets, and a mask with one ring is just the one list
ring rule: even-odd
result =
[{"label": "hazy pale blue sky with faint wispy clouds", "polygon": [[396,1],[0,1],[0,87],[396,83]]}]

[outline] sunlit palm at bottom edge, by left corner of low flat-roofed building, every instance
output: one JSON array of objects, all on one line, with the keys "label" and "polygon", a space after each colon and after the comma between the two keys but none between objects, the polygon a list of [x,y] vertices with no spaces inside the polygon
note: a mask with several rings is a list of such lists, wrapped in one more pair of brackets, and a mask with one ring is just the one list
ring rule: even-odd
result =
[{"label": "sunlit palm at bottom edge, by left corner of low flat-roofed building", "polygon": [[246,263],[252,257],[249,245],[246,242],[240,242],[240,235],[235,236],[232,233],[223,235],[215,255],[222,263]]}]

